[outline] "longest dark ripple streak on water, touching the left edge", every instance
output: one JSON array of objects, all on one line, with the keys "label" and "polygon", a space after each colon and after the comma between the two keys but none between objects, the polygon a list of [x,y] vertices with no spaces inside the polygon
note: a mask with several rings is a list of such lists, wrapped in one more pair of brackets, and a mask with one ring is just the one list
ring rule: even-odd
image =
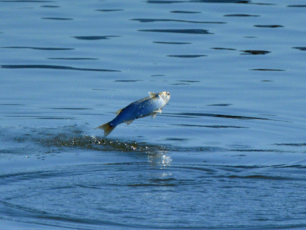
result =
[{"label": "longest dark ripple streak on water, touching the left edge", "polygon": [[104,71],[104,72],[121,72],[120,70],[108,70],[108,69],[87,69],[87,68],[75,68],[70,66],[54,66],[54,65],[0,65],[0,68],[5,69],[57,69],[57,70],[81,70],[81,71]]}]

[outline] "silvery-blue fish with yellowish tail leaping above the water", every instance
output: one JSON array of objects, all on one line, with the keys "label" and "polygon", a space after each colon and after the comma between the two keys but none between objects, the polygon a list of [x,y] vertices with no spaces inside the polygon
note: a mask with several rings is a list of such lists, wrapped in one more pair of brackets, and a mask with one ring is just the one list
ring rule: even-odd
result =
[{"label": "silvery-blue fish with yellowish tail leaping above the water", "polygon": [[117,125],[123,122],[129,125],[132,121],[141,117],[151,115],[152,119],[155,118],[156,114],[161,113],[162,108],[168,103],[170,93],[166,91],[158,94],[149,92],[149,95],[149,97],[142,98],[136,102],[132,102],[123,109],[119,109],[116,112],[117,116],[112,121],[100,125],[97,128],[103,129],[104,137],[106,137]]}]

